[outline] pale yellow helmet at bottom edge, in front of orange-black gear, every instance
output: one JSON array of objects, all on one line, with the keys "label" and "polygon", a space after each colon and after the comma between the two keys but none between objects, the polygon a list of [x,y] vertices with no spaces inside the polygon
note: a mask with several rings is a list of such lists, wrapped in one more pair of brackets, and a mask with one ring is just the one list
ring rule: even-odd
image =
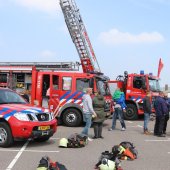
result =
[{"label": "pale yellow helmet at bottom edge, in front of orange-black gear", "polygon": [[102,163],[99,165],[100,170],[115,170],[116,165],[115,162],[109,160],[109,159],[103,159]]}]

